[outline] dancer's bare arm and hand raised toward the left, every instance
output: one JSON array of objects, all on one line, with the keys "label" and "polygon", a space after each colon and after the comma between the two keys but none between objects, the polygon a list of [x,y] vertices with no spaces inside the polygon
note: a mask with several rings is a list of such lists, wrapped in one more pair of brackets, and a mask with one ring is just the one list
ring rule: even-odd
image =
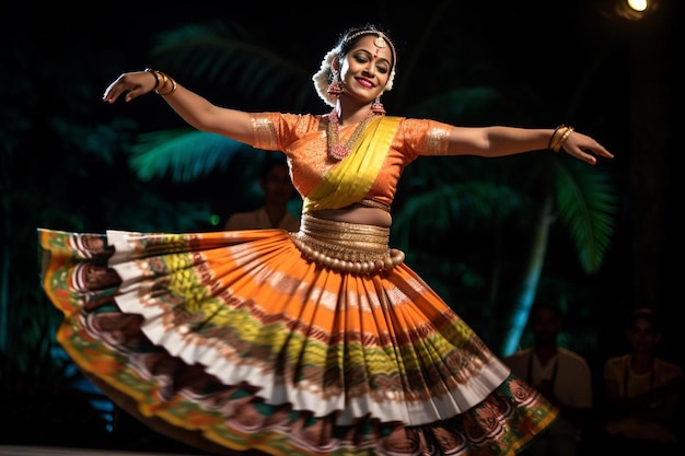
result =
[{"label": "dancer's bare arm and hand raised toward the left", "polygon": [[[125,102],[130,102],[152,92],[156,86],[158,78],[151,71],[124,73],[105,90],[103,101],[114,103],[123,95]],[[222,135],[252,145],[254,132],[248,113],[213,105],[177,82],[175,86],[172,93],[161,96],[186,122],[200,131]]]}]

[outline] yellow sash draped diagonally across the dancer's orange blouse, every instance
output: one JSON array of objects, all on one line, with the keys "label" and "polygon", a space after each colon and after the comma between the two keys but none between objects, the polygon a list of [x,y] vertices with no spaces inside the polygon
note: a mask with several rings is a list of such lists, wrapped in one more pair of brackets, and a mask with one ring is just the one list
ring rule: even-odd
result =
[{"label": "yellow sash draped diagonally across the dancer's orange blouse", "polygon": [[330,168],[304,198],[302,213],[339,209],[369,192],[385,161],[402,117],[379,116],[371,120],[352,151]]}]

